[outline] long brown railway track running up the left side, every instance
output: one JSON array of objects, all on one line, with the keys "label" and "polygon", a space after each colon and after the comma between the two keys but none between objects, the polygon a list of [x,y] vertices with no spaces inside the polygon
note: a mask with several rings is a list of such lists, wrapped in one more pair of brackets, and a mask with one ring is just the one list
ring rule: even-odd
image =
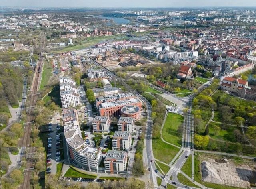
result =
[{"label": "long brown railway track running up the left side", "polygon": [[[36,100],[38,100],[38,96],[36,95],[36,93],[38,93],[37,91],[39,90],[40,87],[40,77],[41,77],[41,72],[42,72],[42,67],[43,67],[43,51],[44,51],[44,43],[45,43],[45,37],[46,34],[43,33],[43,38],[41,41],[41,45],[40,45],[40,53],[39,53],[39,60],[38,63],[35,67],[34,70],[34,78],[32,81],[32,85],[30,88],[30,97],[29,97],[29,107],[35,106],[36,105]],[[27,117],[26,117],[26,123],[24,125],[24,136],[22,138],[22,143],[21,143],[21,147],[22,147],[22,156],[24,156],[25,154],[25,150],[27,147],[30,147],[30,135],[31,135],[31,130],[33,127],[33,122],[35,120],[35,116],[31,114],[31,112],[27,113]],[[29,148],[29,153],[34,152],[35,148]],[[34,164],[31,161],[27,161],[26,164],[26,169],[30,169],[34,166]],[[30,188],[30,177],[31,177],[31,170],[26,171],[24,173],[24,181],[22,186],[20,187],[21,189],[29,189]]]}]

